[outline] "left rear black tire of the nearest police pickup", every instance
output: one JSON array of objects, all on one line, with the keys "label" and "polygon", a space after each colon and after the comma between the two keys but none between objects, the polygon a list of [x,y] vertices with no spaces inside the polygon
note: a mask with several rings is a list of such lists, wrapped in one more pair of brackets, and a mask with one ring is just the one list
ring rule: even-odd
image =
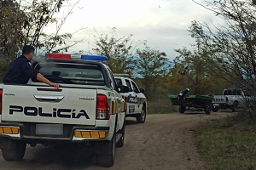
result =
[{"label": "left rear black tire of the nearest police pickup", "polygon": [[15,149],[2,149],[2,156],[5,161],[20,161],[23,159],[26,151],[26,143],[23,141],[15,142]]}]

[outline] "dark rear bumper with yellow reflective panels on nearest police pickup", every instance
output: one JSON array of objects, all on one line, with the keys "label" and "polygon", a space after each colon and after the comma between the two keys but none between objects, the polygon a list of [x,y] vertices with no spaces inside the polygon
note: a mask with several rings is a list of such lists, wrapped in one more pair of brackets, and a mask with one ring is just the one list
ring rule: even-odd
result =
[{"label": "dark rear bumper with yellow reflective panels on nearest police pickup", "polygon": [[[18,129],[18,130],[17,130]],[[36,123],[0,122],[0,137],[15,140],[26,140],[34,143],[49,142],[84,142],[107,140],[110,127],[94,127],[82,125],[63,125],[62,135],[36,133]]]}]

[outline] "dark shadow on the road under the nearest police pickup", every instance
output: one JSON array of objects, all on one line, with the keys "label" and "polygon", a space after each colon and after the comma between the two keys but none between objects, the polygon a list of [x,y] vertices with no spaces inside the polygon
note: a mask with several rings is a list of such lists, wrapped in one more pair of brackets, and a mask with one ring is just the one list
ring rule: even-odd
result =
[{"label": "dark shadow on the road under the nearest police pickup", "polygon": [[[1,159],[3,161],[3,159]],[[3,161],[1,167],[12,169],[14,162]],[[6,166],[6,167],[5,167]],[[26,169],[84,169],[96,166],[94,148],[79,146],[27,146],[25,157],[22,161],[15,161],[15,167]]]}]

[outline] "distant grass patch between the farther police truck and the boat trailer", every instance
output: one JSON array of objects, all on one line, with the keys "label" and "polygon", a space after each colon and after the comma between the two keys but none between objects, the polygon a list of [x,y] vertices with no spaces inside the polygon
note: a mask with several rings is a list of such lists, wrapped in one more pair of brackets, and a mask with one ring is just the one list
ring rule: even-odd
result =
[{"label": "distant grass patch between the farther police truck and the boat trailer", "polygon": [[171,100],[166,98],[148,101],[148,114],[165,114],[177,112],[178,107],[173,106]]}]

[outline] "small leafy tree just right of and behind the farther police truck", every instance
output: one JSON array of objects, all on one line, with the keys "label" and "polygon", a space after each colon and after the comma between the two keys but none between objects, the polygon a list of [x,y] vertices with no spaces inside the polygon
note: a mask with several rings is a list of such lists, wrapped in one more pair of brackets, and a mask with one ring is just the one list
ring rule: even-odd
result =
[{"label": "small leafy tree just right of and behind the farther police truck", "polygon": [[157,88],[161,86],[170,66],[171,62],[166,57],[166,53],[148,46],[137,49],[135,72],[137,77],[142,77],[141,82],[148,100],[153,99],[154,94],[157,94]]}]

